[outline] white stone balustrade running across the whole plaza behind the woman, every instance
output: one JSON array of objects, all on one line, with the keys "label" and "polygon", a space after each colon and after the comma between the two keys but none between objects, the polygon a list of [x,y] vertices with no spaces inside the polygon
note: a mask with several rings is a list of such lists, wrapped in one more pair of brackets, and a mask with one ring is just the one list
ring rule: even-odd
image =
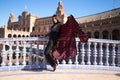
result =
[{"label": "white stone balustrade running across the whole plaza behind the woman", "polygon": [[[0,38],[0,71],[46,69],[44,58],[48,39],[44,37]],[[120,71],[120,41],[76,38],[77,55],[58,61],[58,68],[107,69]]]}]

